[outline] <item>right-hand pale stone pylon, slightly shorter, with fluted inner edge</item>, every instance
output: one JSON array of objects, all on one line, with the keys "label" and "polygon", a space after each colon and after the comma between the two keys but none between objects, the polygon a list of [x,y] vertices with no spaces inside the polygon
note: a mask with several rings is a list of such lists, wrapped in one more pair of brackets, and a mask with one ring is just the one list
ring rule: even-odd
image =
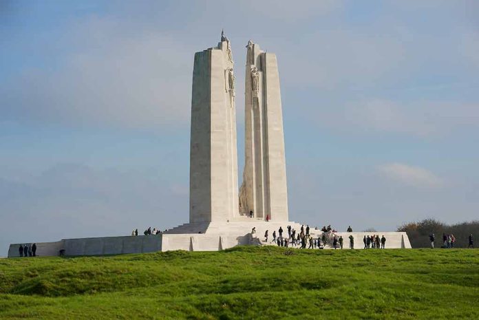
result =
[{"label": "right-hand pale stone pylon, slightly shorter, with fluted inner edge", "polygon": [[276,55],[246,46],[245,163],[240,213],[288,221],[283,114]]}]

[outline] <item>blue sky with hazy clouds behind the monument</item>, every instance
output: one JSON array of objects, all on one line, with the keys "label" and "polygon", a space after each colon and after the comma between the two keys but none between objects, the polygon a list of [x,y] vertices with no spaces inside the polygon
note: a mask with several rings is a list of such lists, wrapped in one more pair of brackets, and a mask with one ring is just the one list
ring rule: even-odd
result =
[{"label": "blue sky with hazy clouds behind the monument", "polygon": [[479,217],[477,1],[1,1],[0,255],[187,222],[194,52],[275,52],[290,219]]}]

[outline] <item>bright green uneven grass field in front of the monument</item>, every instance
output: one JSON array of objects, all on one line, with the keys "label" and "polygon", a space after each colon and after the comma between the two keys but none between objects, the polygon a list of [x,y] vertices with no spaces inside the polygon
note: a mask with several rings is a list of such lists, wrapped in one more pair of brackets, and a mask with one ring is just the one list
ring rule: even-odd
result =
[{"label": "bright green uneven grass field in front of the monument", "polygon": [[1,259],[0,319],[479,319],[479,250]]}]

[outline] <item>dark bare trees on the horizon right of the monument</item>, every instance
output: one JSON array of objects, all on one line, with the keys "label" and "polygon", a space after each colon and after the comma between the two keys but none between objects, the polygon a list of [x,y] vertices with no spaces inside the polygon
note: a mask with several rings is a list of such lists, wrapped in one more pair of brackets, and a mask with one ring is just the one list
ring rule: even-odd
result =
[{"label": "dark bare trees on the horizon right of the monument", "polygon": [[[444,224],[435,219],[425,219],[418,222],[409,222],[398,227],[398,231],[407,233],[413,248],[430,248],[429,235],[436,236],[436,248],[443,243],[443,233],[453,234],[456,237],[455,248],[467,248],[469,235],[474,239],[479,237],[479,220],[458,224]],[[476,241],[475,241],[476,242]],[[476,243],[474,244],[477,245]]]}]

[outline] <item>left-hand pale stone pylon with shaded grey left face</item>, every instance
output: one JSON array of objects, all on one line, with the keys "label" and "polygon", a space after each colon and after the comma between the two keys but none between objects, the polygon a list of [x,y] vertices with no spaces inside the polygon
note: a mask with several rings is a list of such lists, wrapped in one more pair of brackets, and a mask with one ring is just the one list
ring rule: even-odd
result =
[{"label": "left-hand pale stone pylon with shaded grey left face", "polygon": [[238,213],[235,76],[231,43],[195,53],[191,95],[190,223]]}]

